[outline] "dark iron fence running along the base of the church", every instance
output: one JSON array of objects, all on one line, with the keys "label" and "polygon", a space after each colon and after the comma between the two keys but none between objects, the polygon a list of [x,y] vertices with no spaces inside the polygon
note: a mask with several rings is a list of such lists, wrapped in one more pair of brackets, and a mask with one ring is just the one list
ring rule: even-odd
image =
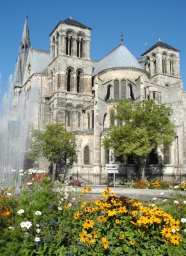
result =
[{"label": "dark iron fence running along the base of the church", "polygon": [[[70,183],[71,180],[79,180],[83,182],[82,185],[114,185],[114,174],[109,173],[66,173],[61,174],[61,182]],[[115,186],[122,186],[128,181],[134,181],[137,179],[137,175],[131,172],[115,173]],[[161,179],[171,184],[180,184],[183,180],[186,180],[186,173],[148,173],[146,180],[157,180]]]}]

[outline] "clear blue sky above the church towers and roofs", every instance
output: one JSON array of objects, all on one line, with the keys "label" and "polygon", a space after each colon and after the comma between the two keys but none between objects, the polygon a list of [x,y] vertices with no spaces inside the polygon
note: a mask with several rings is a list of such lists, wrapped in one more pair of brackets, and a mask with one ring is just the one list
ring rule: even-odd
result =
[{"label": "clear blue sky above the church towers and roofs", "polygon": [[[27,7],[28,6],[28,7]],[[27,11],[28,10],[28,11]],[[92,28],[91,58],[100,60],[120,44],[139,58],[159,38],[180,50],[180,74],[186,90],[185,0],[0,0],[0,97],[9,87],[19,54],[26,13],[33,48],[49,51],[49,34],[72,16]]]}]

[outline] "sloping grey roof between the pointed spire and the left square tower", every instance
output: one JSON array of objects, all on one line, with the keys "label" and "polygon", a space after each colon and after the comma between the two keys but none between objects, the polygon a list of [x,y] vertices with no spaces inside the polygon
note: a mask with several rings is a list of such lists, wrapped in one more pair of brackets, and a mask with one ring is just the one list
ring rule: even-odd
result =
[{"label": "sloping grey roof between the pointed spire and the left square tower", "polygon": [[50,63],[50,52],[39,49],[30,49],[31,70],[33,73],[48,74],[47,66]]}]

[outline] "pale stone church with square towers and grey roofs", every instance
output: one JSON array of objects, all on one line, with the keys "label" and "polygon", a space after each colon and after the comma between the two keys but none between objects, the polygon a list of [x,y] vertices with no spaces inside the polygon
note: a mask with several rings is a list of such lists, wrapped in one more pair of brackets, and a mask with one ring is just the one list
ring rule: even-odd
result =
[{"label": "pale stone church with square towers and grey roofs", "polygon": [[[26,17],[13,78],[14,111],[20,95],[29,96],[35,88],[31,129],[43,131],[46,124],[64,123],[77,136],[78,161],[72,171],[105,173],[105,163],[117,162],[101,140],[110,124],[117,125],[111,116],[118,99],[166,103],[173,108],[176,137],[169,155],[154,150],[149,164],[156,171],[163,166],[167,173],[185,172],[186,94],[180,51],[159,40],[135,58],[121,35],[118,47],[102,60],[91,60],[90,45],[91,28],[69,17],[51,31],[50,51],[35,49]],[[122,161],[122,168],[134,168],[129,158]]]}]

